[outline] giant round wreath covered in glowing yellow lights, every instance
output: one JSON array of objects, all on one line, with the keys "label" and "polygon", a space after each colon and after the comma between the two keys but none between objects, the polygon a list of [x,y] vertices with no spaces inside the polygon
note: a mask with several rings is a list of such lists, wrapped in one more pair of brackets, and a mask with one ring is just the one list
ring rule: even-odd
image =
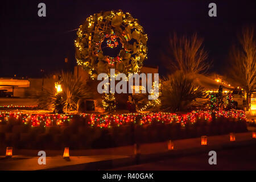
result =
[{"label": "giant round wreath covered in glowing yellow lights", "polygon": [[99,73],[139,72],[147,59],[147,35],[129,13],[106,11],[90,15],[77,31],[76,60],[92,79]]}]

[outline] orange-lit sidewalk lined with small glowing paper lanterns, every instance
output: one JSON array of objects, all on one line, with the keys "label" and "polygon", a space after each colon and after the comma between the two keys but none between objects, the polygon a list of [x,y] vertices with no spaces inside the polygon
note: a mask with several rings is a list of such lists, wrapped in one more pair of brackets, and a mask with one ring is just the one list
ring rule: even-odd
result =
[{"label": "orange-lit sidewalk lined with small glowing paper lanterns", "polygon": [[252,133],[237,133],[236,141],[230,142],[228,135],[207,137],[207,146],[201,146],[201,138],[174,140],[174,150],[167,150],[167,142],[147,143],[141,145],[141,155],[134,158],[133,146],[94,150],[71,150],[70,160],[63,159],[63,151],[46,150],[46,165],[39,165],[37,156],[39,150],[15,150],[11,159],[0,156],[0,170],[96,170],[119,166],[129,166],[136,163],[150,162],[164,157],[191,155],[210,150],[241,147],[256,144]]}]

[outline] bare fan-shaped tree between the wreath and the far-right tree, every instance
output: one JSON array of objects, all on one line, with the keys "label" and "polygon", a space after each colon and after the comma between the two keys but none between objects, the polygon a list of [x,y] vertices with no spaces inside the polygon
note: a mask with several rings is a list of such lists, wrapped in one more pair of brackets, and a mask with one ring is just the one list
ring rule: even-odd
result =
[{"label": "bare fan-shaped tree between the wreath and the far-right tree", "polygon": [[180,38],[174,33],[169,39],[170,47],[163,55],[170,71],[183,71],[184,73],[205,73],[211,63],[207,62],[208,52],[204,50],[203,39],[197,34],[191,38],[183,35]]}]

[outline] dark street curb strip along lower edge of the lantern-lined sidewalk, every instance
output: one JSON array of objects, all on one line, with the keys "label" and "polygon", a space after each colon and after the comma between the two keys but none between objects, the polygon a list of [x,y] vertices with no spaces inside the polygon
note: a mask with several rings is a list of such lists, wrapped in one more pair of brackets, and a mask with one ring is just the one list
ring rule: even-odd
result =
[{"label": "dark street curb strip along lower edge of the lantern-lined sidewalk", "polygon": [[201,146],[201,147],[184,149],[184,150],[165,151],[165,152],[159,152],[155,154],[128,156],[127,158],[104,160],[104,161],[93,162],[93,163],[75,164],[75,165],[64,166],[64,167],[44,169],[44,171],[108,170],[108,169],[113,169],[118,167],[133,166],[136,164],[154,162],[156,160],[162,160],[165,158],[175,158],[175,157],[182,157],[182,156],[193,155],[193,154],[202,154],[204,152],[208,153],[211,150],[220,151],[220,150],[232,149],[232,148],[237,148],[242,146],[251,146],[253,144],[256,144],[256,140],[254,139],[245,140],[241,142],[229,142],[229,143],[224,143],[221,145],[214,145],[214,146]]}]

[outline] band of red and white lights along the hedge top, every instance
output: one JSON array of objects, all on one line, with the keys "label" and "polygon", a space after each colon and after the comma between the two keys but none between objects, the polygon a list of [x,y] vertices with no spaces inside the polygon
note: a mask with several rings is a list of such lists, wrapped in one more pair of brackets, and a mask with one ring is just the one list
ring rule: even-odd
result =
[{"label": "band of red and white lights along the hedge top", "polygon": [[[176,114],[176,113],[130,113],[130,114],[26,114],[22,112],[0,112],[0,125],[11,120],[20,121],[24,125],[31,127],[35,126],[67,126],[72,122],[74,116],[76,119],[88,119],[88,125],[96,127],[112,127],[122,126],[125,123],[136,123],[137,125],[148,125],[153,121],[158,123],[180,123],[185,126],[188,123],[195,123],[197,119],[204,119],[211,122],[213,115],[215,118],[231,118],[231,119],[246,119],[245,112],[242,110],[230,111],[192,111],[191,113]],[[77,118],[78,117],[78,118]],[[86,121],[86,120],[85,120]]]}]

